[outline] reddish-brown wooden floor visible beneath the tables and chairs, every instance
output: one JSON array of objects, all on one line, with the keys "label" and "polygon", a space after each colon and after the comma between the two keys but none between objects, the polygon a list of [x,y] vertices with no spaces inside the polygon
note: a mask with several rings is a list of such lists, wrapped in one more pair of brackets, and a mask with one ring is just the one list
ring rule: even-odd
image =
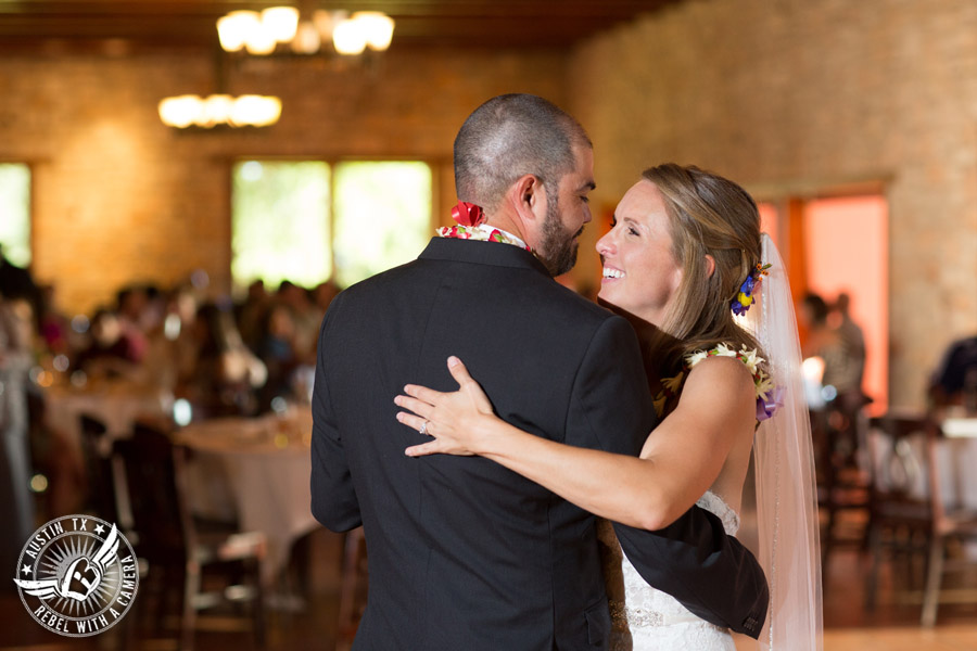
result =
[{"label": "reddish-brown wooden floor visible beneath the tables and chairs", "polygon": [[[337,649],[342,538],[317,531],[310,536],[309,544],[310,587],[304,608],[270,610],[266,646],[270,651]],[[910,585],[910,578],[918,580],[919,566],[886,564],[880,573],[878,605],[874,612],[865,612],[864,579],[868,566],[867,559],[854,550],[836,552],[830,559],[824,599],[825,651],[977,651],[977,605],[941,605],[937,627],[919,628],[919,605],[904,602],[899,597],[902,591],[897,589]],[[977,574],[963,580],[977,587]],[[0,589],[7,588],[0,586]],[[135,612],[129,613],[129,616],[134,615]],[[112,651],[128,648],[172,651],[177,648],[176,622],[165,624],[170,625],[169,634],[165,633],[167,626],[164,626],[164,634],[139,639],[128,647],[123,643],[123,631],[116,630],[120,626],[93,638],[69,639],[42,630],[14,593],[0,593],[0,649],[4,650]],[[140,634],[139,637],[145,636]],[[756,644],[738,643],[737,648],[743,651],[756,648]],[[256,651],[257,646],[252,634],[232,620],[207,617],[198,630],[196,649]]]}]

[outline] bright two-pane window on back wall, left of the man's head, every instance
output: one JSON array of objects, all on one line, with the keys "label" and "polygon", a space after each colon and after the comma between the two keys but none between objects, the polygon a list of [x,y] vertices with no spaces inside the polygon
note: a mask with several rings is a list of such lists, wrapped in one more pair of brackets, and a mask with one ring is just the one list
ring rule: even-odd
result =
[{"label": "bright two-pane window on back wall, left of the man's head", "polygon": [[431,231],[419,162],[244,161],[233,169],[231,275],[348,286],[415,258]]}]

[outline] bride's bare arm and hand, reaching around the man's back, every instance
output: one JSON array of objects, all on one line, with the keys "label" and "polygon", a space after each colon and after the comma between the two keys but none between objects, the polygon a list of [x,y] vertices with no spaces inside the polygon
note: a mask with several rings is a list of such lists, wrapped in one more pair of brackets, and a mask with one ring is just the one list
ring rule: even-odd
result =
[{"label": "bride's bare arm and hand, reaching around the man's back", "polygon": [[689,373],[678,406],[648,436],[639,458],[563,445],[528,434],[497,418],[465,365],[448,368],[459,391],[407,385],[395,403],[414,413],[397,420],[433,441],[407,448],[480,455],[602,518],[659,529],[687,511],[712,485],[736,441],[752,436],[753,382],[737,359],[711,357]]}]

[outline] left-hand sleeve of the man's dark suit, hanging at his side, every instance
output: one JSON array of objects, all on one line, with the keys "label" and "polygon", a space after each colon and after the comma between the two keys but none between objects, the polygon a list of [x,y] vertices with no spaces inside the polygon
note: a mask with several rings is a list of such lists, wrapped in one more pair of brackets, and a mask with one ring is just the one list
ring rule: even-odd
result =
[{"label": "left-hand sleeve of the man's dark suit, hanging at his side", "polygon": [[[312,512],[316,520],[334,532],[345,532],[363,524],[359,502],[353,487],[353,477],[343,438],[337,422],[329,376],[329,337],[342,309],[343,295],[329,306],[319,329],[316,356],[316,380],[313,390],[312,439]],[[331,328],[333,327],[333,328]]]}]

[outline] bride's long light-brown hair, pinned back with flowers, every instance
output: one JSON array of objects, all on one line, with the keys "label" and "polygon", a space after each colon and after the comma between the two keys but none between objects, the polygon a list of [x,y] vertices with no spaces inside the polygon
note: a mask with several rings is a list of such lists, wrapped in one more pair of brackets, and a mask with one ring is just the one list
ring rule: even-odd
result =
[{"label": "bride's long light-brown hair, pinned back with flowers", "polygon": [[[664,362],[664,372],[681,366],[685,354],[720,343],[759,350],[732,311],[740,285],[760,263],[757,203],[733,181],[695,166],[665,163],[642,177],[664,200],[672,255],[683,271],[660,336],[648,342],[652,357]],[[707,255],[715,263],[711,275]]]}]

